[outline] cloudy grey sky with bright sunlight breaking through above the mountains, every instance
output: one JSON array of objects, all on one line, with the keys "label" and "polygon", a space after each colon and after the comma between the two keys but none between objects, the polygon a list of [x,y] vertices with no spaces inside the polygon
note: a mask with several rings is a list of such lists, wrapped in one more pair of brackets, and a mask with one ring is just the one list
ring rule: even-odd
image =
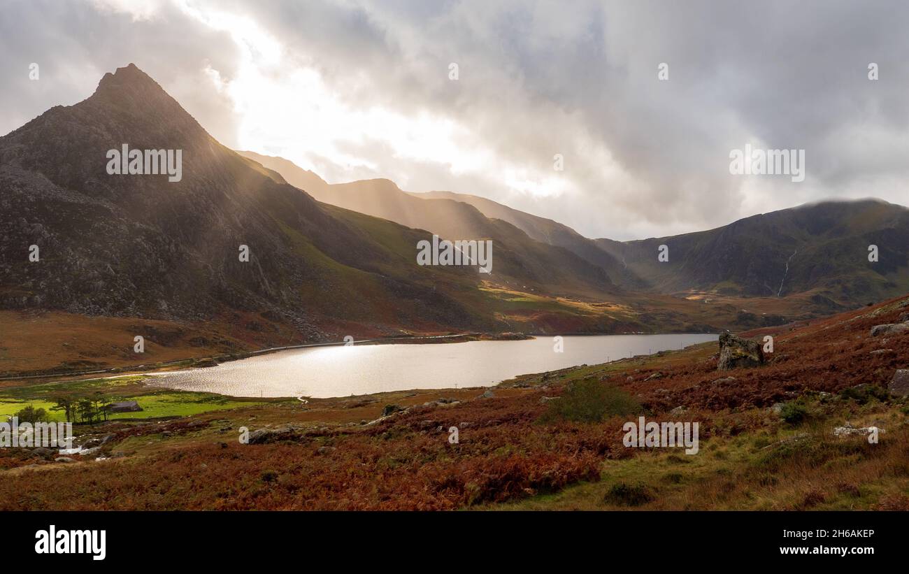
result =
[{"label": "cloudy grey sky with bright sunlight breaking through above the mountains", "polygon": [[[0,134],[135,63],[220,142],[329,183],[659,237],[909,203],[907,29],[885,1],[4,0]],[[730,173],[746,144],[804,150],[804,181]]]}]

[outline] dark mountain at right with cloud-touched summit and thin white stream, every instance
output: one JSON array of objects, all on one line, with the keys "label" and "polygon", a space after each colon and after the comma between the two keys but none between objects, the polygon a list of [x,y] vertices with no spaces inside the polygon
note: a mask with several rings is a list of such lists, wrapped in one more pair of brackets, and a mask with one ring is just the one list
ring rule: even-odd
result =
[{"label": "dark mountain at right with cloud-touched summit and thin white stream", "polygon": [[[812,293],[838,308],[909,291],[909,210],[881,200],[812,203],[704,232],[597,243],[653,292]],[[657,260],[660,245],[667,262]]]}]

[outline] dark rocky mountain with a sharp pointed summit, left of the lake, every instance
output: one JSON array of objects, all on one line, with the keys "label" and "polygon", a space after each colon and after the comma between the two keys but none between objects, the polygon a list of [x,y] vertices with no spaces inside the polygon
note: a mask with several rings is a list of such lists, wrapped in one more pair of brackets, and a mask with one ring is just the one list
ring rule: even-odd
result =
[{"label": "dark rocky mountain with a sharp pointed summit, left of the lake", "polygon": [[[182,178],[109,174],[107,153],[124,144],[181,150]],[[305,339],[326,325],[504,326],[478,304],[475,268],[415,264],[428,233],[316,202],[215,141],[134,64],[0,138],[0,212],[3,309],[256,313],[251,329],[289,323]]]}]

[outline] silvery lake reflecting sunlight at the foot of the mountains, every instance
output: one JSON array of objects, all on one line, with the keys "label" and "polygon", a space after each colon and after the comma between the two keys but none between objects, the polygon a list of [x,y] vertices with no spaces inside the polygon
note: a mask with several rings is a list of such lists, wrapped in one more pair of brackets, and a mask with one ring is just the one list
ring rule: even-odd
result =
[{"label": "silvery lake reflecting sunlight at the foot of the mountains", "polygon": [[378,344],[277,351],[205,369],[155,375],[155,386],[235,397],[343,397],[384,391],[488,387],[520,374],[716,341],[714,334],[593,335],[526,341]]}]

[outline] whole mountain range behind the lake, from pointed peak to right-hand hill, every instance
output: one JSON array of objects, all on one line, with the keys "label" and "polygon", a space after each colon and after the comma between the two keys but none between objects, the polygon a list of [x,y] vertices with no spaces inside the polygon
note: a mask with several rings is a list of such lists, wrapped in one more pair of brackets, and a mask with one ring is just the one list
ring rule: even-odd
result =
[{"label": "whole mountain range behind the lake, from pointed peak to right-hand hill", "polygon": [[[108,175],[105,153],[122,146],[181,150],[179,181]],[[5,377],[348,336],[740,331],[909,290],[901,206],[818,203],[677,237],[587,239],[473,195],[329,184],[235,153],[133,64],[0,137],[0,191],[0,313],[16,333],[0,338]],[[494,246],[490,272],[420,265],[434,235]]]}]

